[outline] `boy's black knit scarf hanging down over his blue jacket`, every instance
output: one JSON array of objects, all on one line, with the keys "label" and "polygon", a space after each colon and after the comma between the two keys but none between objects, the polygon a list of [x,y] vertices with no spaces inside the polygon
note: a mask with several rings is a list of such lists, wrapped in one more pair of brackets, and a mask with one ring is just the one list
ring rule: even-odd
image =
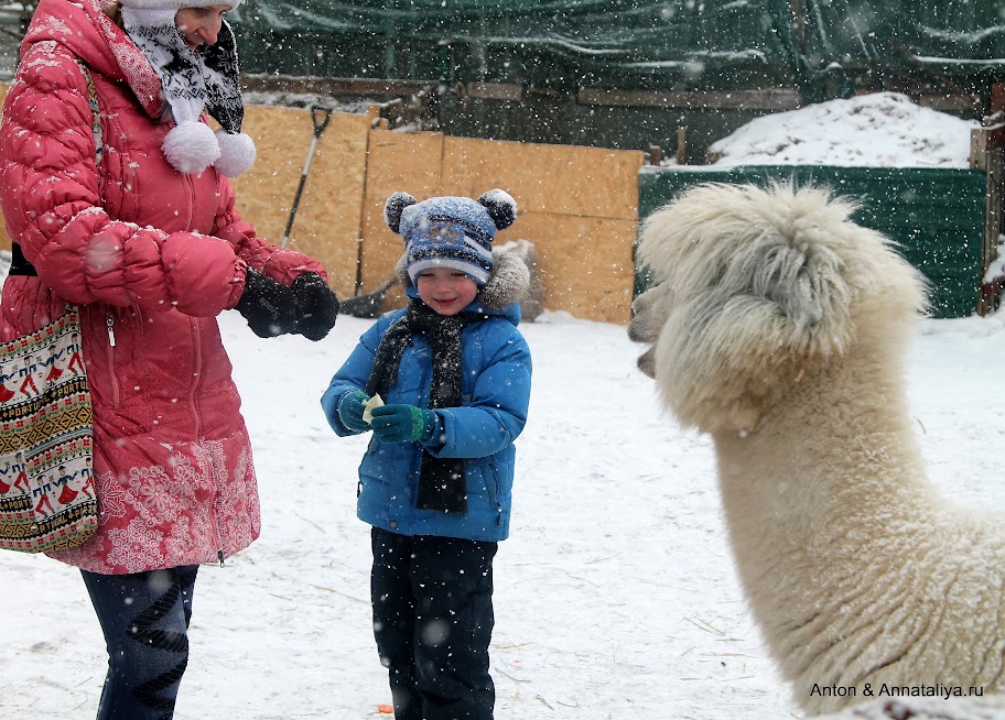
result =
[{"label": "boy's black knit scarf hanging down over his blue jacket", "polygon": [[[414,335],[424,335],[433,351],[433,381],[430,388],[431,410],[461,406],[461,331],[485,319],[480,313],[440,315],[420,299],[412,299],[408,310],[380,340],[366,393],[387,396],[398,379],[398,366]],[[467,479],[460,458],[437,458],[422,450],[419,493],[415,506],[447,513],[467,512]]]}]

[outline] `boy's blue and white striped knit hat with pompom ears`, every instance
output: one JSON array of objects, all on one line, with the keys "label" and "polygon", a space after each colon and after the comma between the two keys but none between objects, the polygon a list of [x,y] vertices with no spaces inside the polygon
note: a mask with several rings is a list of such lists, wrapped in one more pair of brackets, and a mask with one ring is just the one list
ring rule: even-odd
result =
[{"label": "boy's blue and white striped knit hat with pompom ears", "polygon": [[517,219],[517,201],[500,189],[488,190],[477,201],[443,196],[419,203],[408,193],[395,193],[383,206],[383,218],[404,239],[412,283],[424,270],[453,268],[480,287],[491,275],[496,230]]}]

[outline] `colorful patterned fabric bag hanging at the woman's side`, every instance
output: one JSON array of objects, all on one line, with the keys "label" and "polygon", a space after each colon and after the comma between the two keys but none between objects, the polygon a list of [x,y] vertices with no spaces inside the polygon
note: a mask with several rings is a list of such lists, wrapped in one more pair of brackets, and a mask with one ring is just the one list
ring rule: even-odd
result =
[{"label": "colorful patterned fabric bag hanging at the woman's side", "polygon": [[79,312],[0,345],[0,548],[79,545],[98,525]]}]

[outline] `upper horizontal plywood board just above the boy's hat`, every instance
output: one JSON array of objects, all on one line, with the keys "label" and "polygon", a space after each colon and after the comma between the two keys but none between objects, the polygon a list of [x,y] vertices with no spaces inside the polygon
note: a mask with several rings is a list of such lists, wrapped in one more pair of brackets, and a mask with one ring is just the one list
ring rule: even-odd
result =
[{"label": "upper horizontal plywood board just above the boy's hat", "polygon": [[638,219],[641,152],[445,138],[443,194],[478,197],[494,187],[521,211]]}]

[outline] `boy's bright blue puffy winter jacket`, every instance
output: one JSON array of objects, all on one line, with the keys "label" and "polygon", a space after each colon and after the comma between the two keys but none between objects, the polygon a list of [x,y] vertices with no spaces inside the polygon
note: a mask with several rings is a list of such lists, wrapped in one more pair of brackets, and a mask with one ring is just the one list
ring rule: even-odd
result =
[{"label": "boy's bright blue puffy winter jacket", "polygon": [[[410,287],[408,294],[415,296],[414,288]],[[443,432],[434,433],[425,449],[436,457],[464,458],[467,513],[415,508],[423,444],[382,443],[374,436],[359,466],[356,504],[358,517],[370,525],[402,535],[474,541],[500,541],[509,535],[514,440],[527,422],[530,350],[517,329],[517,303],[494,309],[475,299],[465,309],[488,317],[462,331],[462,406],[435,411]],[[339,400],[366,388],[380,339],[403,314],[403,309],[386,313],[364,332],[322,396],[328,424],[339,436],[354,435],[338,417]],[[431,354],[425,338],[414,336],[385,403],[429,407]]]}]

